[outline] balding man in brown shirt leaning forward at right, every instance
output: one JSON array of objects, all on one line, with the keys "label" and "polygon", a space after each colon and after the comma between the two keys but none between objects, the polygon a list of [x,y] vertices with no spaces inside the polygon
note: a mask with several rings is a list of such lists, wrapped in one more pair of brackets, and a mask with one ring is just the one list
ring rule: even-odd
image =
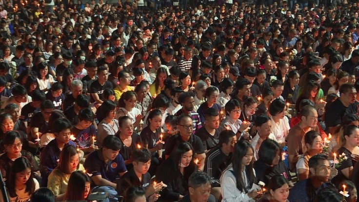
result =
[{"label": "balding man in brown shirt leaning forward at right", "polygon": [[304,143],[305,134],[311,130],[315,130],[319,133],[319,127],[317,125],[318,112],[315,107],[305,105],[300,110],[300,119],[301,121],[289,130],[287,136],[288,161],[291,170],[296,167],[300,155],[307,150]]}]

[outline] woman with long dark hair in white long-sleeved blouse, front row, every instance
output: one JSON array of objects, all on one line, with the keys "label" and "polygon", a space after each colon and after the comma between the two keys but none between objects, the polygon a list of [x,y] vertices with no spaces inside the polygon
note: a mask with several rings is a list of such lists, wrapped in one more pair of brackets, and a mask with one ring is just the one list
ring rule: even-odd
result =
[{"label": "woman with long dark hair in white long-sleeved blouse, front row", "polygon": [[250,202],[257,197],[256,173],[252,166],[254,149],[248,141],[238,141],[233,161],[220,177],[222,202]]}]

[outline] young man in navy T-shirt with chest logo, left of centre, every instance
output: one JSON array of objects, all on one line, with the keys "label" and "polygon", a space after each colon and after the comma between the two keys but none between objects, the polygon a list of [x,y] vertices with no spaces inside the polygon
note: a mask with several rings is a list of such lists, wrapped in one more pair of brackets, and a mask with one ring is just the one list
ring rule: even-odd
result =
[{"label": "young man in navy T-shirt with chest logo, left of centre", "polygon": [[97,136],[96,128],[92,124],[94,113],[92,113],[91,109],[84,108],[79,111],[78,118],[79,122],[71,129],[71,134],[76,138],[76,144],[85,154],[99,149],[98,146],[92,143]]}]

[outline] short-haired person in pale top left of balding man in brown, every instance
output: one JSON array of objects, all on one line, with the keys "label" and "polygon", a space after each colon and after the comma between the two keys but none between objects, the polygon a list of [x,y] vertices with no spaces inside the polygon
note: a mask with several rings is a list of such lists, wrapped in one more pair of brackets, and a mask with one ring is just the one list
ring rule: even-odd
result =
[{"label": "short-haired person in pale top left of balding man in brown", "polygon": [[262,141],[268,138],[274,141],[277,141],[277,139],[276,136],[271,133],[272,122],[267,115],[259,115],[256,118],[254,125],[256,126],[258,132],[256,136],[254,136],[254,138],[251,140],[251,144],[255,153],[254,160],[257,161],[259,158],[258,151],[260,145],[262,144]]}]

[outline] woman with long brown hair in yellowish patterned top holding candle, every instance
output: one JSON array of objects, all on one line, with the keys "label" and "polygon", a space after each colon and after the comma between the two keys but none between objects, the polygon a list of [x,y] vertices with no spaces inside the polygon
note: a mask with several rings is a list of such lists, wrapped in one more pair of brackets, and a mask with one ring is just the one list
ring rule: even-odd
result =
[{"label": "woman with long brown hair in yellowish patterned top holding candle", "polygon": [[67,190],[67,184],[71,173],[84,171],[80,161],[80,153],[72,145],[66,145],[60,153],[59,166],[49,175],[47,188],[56,196],[57,201],[62,201]]}]

